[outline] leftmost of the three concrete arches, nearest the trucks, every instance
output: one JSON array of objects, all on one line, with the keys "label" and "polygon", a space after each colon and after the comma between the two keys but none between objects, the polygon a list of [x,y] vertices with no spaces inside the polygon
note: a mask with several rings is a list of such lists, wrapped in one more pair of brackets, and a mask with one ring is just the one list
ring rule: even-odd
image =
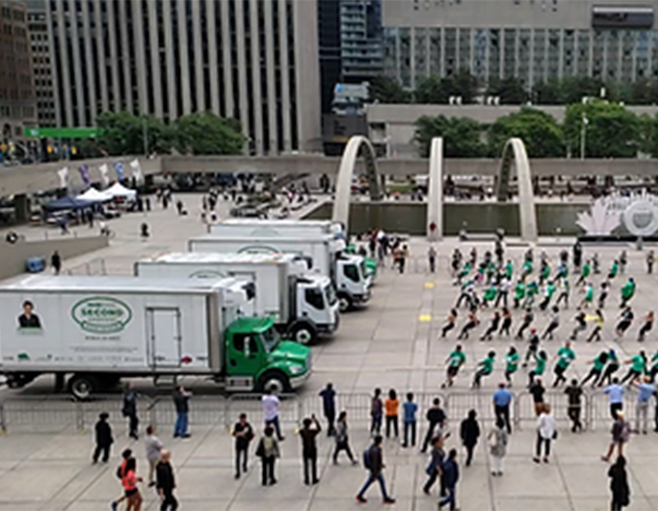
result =
[{"label": "leftmost of the three concrete arches, nearest the trucks", "polygon": [[332,219],[340,222],[346,230],[349,228],[351,178],[355,173],[359,152],[363,156],[366,164],[366,173],[370,186],[370,199],[372,201],[380,201],[383,195],[374,147],[366,136],[352,136],[349,139],[340,158],[340,167],[338,168],[338,177],[336,178],[336,198],[334,199],[334,211],[332,213]]}]

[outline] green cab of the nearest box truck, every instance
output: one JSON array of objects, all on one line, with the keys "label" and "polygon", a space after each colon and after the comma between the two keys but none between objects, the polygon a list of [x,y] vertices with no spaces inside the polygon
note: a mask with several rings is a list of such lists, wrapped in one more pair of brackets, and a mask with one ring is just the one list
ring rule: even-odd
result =
[{"label": "green cab of the nearest box truck", "polygon": [[272,318],[239,318],[226,330],[229,390],[289,392],[311,375],[311,349],[282,341]]}]

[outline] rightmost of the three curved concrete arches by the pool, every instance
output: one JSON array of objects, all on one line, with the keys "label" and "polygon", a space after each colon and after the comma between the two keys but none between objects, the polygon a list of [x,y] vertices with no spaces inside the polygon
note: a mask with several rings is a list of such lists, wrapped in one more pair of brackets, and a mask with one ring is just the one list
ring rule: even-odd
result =
[{"label": "rightmost of the three curved concrete arches by the pool", "polygon": [[521,139],[510,139],[505,143],[501,166],[498,171],[495,195],[499,202],[507,201],[512,163],[514,163],[518,186],[521,239],[524,241],[537,241],[537,213],[535,211],[535,194],[533,193],[533,176],[526,146]]}]

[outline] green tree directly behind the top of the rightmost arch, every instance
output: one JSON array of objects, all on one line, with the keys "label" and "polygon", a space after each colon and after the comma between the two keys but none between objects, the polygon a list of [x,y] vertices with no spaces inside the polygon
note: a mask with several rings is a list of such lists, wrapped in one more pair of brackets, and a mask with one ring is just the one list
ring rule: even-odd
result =
[{"label": "green tree directly behind the top of the rightmost arch", "polygon": [[541,110],[522,108],[519,112],[497,119],[487,131],[490,154],[500,156],[505,142],[514,136],[524,141],[533,158],[564,156],[562,129],[552,116]]}]

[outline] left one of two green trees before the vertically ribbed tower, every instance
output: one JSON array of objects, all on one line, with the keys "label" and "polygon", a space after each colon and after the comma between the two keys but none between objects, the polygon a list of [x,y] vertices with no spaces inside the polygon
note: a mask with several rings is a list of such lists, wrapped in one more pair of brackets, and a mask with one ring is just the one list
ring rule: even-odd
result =
[{"label": "left one of two green trees before the vertically ribbed tower", "polygon": [[96,145],[111,156],[144,154],[145,148],[148,154],[166,154],[171,150],[171,128],[153,116],[106,111],[97,117],[96,126],[100,130]]}]

